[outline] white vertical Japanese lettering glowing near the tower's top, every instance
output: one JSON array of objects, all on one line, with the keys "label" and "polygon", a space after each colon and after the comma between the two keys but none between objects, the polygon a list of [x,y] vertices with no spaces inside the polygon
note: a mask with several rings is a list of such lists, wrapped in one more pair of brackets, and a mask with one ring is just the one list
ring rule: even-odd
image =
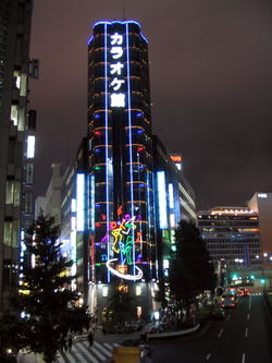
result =
[{"label": "white vertical Japanese lettering glowing near the tower's top", "polygon": [[125,93],[122,92],[125,84],[124,77],[124,63],[122,62],[124,56],[124,37],[120,33],[113,33],[110,37],[110,63],[108,76],[109,90],[111,98],[111,107],[125,107]]}]

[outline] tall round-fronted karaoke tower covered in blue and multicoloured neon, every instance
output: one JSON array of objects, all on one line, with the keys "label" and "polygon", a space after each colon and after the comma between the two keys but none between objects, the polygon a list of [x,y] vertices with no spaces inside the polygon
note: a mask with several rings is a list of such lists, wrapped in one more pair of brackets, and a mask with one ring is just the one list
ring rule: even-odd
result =
[{"label": "tall round-fronted karaoke tower covered in blue and multicoloured neon", "polygon": [[88,55],[90,281],[148,283],[157,276],[148,43],[134,21],[98,22]]}]

